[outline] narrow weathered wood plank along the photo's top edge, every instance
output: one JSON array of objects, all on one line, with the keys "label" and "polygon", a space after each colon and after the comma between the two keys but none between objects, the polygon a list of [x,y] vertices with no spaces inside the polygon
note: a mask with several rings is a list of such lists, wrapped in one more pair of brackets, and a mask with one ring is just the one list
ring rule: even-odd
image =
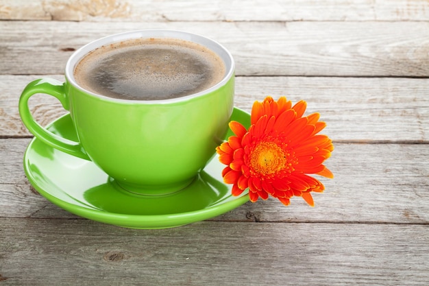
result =
[{"label": "narrow weathered wood plank along the photo's top edge", "polygon": [[429,3],[419,0],[180,0],[174,3],[155,0],[1,0],[0,19],[121,22],[428,21]]}]

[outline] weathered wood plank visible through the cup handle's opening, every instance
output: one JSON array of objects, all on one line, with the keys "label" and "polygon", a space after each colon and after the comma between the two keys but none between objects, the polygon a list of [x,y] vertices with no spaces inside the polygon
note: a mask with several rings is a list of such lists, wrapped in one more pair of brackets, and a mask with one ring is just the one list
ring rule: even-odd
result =
[{"label": "weathered wood plank visible through the cup handle's opening", "polygon": [[[62,75],[47,75],[64,80]],[[29,136],[21,123],[18,101],[25,84],[38,75],[0,75],[0,136]],[[304,99],[308,114],[320,112],[335,141],[427,142],[429,79],[238,77],[235,105],[250,111],[255,100],[286,96]],[[56,99],[36,95],[30,102],[42,124],[64,110]]]}]

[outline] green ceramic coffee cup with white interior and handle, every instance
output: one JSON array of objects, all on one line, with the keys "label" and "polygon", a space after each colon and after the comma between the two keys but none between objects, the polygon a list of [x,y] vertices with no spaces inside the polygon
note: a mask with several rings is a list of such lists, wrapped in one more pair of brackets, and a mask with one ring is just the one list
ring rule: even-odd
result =
[{"label": "green ceramic coffee cup with white interior and handle", "polygon": [[[84,56],[135,38],[173,38],[203,45],[223,60],[225,75],[204,91],[159,100],[115,99],[77,84],[73,73]],[[56,97],[69,110],[78,142],[57,136],[34,120],[28,100],[37,93]],[[173,193],[190,184],[224,138],[233,107],[234,60],[228,50],[203,36],[171,30],[141,30],[95,40],[69,58],[64,83],[35,80],[25,87],[19,102],[23,123],[40,141],[91,160],[119,190],[143,195]]]}]

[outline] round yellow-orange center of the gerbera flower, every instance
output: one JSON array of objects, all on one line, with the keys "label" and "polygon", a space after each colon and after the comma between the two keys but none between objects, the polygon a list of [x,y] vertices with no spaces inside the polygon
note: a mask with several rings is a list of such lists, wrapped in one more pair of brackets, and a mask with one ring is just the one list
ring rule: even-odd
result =
[{"label": "round yellow-orange center of the gerbera flower", "polygon": [[260,142],[250,154],[252,169],[262,176],[278,173],[286,163],[286,154],[273,142]]}]

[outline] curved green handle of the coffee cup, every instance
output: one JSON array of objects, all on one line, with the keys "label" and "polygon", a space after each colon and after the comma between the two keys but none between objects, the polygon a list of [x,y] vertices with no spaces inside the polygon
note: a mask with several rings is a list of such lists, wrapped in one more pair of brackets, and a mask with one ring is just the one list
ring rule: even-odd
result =
[{"label": "curved green handle of the coffee cup", "polygon": [[71,154],[73,156],[90,160],[88,154],[86,154],[84,148],[79,142],[65,139],[61,136],[49,132],[46,128],[40,126],[39,123],[34,119],[32,112],[29,110],[28,100],[32,95],[36,93],[45,93],[56,97],[62,104],[65,110],[69,110],[69,97],[64,92],[64,84],[58,80],[51,78],[42,78],[40,80],[34,80],[27,84],[24,88],[23,93],[19,99],[19,115],[25,125],[34,136],[40,141],[54,147],[62,152]]}]

